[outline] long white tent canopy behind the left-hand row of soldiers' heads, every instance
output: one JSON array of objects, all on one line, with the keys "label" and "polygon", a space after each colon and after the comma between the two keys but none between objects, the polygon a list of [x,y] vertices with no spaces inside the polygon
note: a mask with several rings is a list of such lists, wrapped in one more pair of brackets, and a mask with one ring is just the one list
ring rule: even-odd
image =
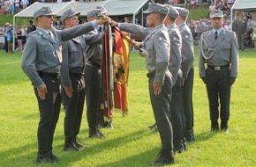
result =
[{"label": "long white tent canopy behind the left-hand row of soldiers' heads", "polygon": [[[33,18],[34,11],[40,9],[42,6],[50,6],[51,10],[56,13],[57,17],[61,17],[64,11],[74,8],[75,11],[80,12],[80,16],[87,16],[87,11],[93,10],[96,6],[104,6],[107,10],[108,16],[124,16],[132,15],[133,23],[135,23],[135,15],[139,14],[143,18],[143,7],[147,4],[148,0],[107,0],[97,2],[66,2],[66,3],[34,3],[26,9],[19,11],[13,17],[13,25],[15,25],[16,18]],[[14,39],[13,39],[14,40]],[[13,41],[14,42],[14,41]],[[14,45],[13,45],[14,50]]]}]

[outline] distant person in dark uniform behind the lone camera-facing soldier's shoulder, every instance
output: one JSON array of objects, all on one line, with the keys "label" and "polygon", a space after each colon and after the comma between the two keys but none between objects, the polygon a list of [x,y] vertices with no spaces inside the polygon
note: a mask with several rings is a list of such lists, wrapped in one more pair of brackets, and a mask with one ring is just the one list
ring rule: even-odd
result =
[{"label": "distant person in dark uniform behind the lone camera-facing soldier's shoulder", "polygon": [[237,34],[239,49],[243,51],[245,49],[245,35],[247,34],[247,21],[243,13],[239,13],[237,16],[237,21],[234,23],[234,32]]}]

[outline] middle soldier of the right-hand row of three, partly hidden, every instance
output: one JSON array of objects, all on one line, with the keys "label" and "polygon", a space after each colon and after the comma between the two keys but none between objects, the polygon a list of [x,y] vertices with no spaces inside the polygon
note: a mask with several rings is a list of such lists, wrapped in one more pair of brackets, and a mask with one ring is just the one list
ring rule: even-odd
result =
[{"label": "middle soldier of the right-hand row of three, partly hidden", "polygon": [[185,149],[185,118],[182,98],[183,75],[182,70],[180,69],[182,37],[177,25],[175,24],[175,19],[179,15],[178,11],[170,5],[167,5],[167,7],[169,8],[169,14],[166,16],[164,24],[166,25],[169,33],[169,71],[174,83],[170,103],[171,123],[173,127],[173,150],[174,152],[181,153]]}]

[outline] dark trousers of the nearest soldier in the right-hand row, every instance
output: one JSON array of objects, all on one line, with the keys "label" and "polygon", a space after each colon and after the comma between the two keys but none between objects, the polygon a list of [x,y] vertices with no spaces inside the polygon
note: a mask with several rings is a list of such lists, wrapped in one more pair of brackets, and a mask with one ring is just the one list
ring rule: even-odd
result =
[{"label": "dark trousers of the nearest soldier in the right-hand row", "polygon": [[148,89],[151,105],[154,112],[155,123],[160,134],[162,150],[171,151],[173,149],[173,131],[170,122],[169,103],[171,100],[172,81],[170,73],[164,76],[164,84],[159,95],[154,94],[153,88],[154,77],[148,79]]}]

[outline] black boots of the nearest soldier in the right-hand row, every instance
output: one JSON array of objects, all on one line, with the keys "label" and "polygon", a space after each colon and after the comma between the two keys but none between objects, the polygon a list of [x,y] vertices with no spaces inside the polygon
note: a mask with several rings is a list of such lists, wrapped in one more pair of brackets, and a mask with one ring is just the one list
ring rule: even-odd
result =
[{"label": "black boots of the nearest soldier in the right-hand row", "polygon": [[175,163],[175,160],[174,160],[173,151],[161,150],[158,158],[153,163],[149,163],[149,165],[161,166],[161,165],[174,164],[174,163]]}]

